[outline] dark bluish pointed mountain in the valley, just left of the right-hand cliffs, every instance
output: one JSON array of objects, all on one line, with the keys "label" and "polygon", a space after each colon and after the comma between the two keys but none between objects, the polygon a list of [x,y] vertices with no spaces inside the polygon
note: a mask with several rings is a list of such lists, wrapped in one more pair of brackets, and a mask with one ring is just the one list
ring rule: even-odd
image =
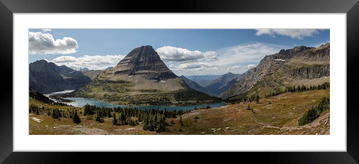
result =
[{"label": "dark bluish pointed mountain in the valley, just left of the right-hand cliffs", "polygon": [[236,83],[241,77],[243,77],[243,75],[229,72],[213,80],[205,88],[218,96]]}]

